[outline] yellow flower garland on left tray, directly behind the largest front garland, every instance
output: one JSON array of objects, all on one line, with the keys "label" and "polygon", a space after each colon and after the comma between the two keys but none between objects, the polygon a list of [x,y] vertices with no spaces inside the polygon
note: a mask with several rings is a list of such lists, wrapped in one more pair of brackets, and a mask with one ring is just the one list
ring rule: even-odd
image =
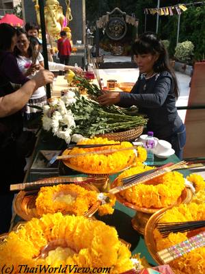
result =
[{"label": "yellow flower garland on left tray, directly behind the largest front garland", "polygon": [[[112,206],[115,205],[115,196],[107,193],[105,196],[109,197],[109,203],[99,206],[98,212],[100,215],[113,213]],[[75,184],[45,186],[40,188],[38,192],[36,210],[39,216],[56,212],[79,216],[85,214],[97,201],[99,201],[98,192],[86,190]]]}]

